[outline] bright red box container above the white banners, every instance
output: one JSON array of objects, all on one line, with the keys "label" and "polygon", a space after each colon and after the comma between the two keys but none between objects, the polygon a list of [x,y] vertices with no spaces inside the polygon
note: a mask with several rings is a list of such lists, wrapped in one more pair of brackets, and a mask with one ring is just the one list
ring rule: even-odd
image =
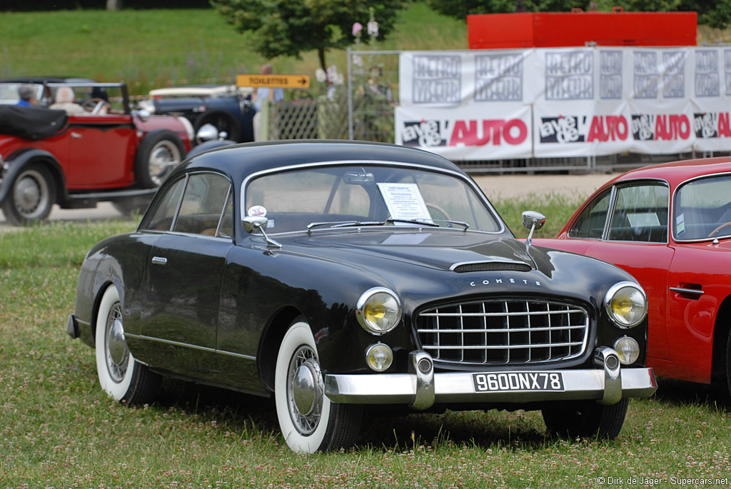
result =
[{"label": "bright red box container above the white banners", "polygon": [[694,46],[696,12],[521,12],[467,15],[470,49]]}]

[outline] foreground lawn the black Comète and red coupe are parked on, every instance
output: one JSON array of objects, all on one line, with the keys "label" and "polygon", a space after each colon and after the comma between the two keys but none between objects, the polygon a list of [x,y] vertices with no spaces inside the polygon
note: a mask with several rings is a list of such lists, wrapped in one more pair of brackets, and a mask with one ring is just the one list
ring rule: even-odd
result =
[{"label": "foreground lawn the black Com\u00e8te and red coupe are parked on", "polygon": [[[547,201],[551,216],[573,205]],[[534,203],[496,207],[512,223]],[[268,399],[170,381],[159,403],[121,406],[99,388],[93,350],[64,327],[87,249],[135,226],[0,233],[0,487],[564,488],[731,474],[725,388],[666,379],[630,403],[615,441],[548,438],[536,412],[447,412],[369,418],[352,450],[301,456]]]}]

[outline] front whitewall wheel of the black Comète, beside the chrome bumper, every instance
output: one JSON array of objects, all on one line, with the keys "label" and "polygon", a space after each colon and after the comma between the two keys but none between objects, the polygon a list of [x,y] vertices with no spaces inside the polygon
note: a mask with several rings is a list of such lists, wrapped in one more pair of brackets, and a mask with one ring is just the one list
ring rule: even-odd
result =
[{"label": "front whitewall wheel of the black Com\u00e8te, beside the chrome bumper", "polygon": [[[311,382],[295,382],[295,376]],[[357,439],[363,406],[331,402],[322,384],[310,327],[303,318],[295,319],[279,346],[274,379],[279,428],[295,452],[337,450],[352,446]]]}]

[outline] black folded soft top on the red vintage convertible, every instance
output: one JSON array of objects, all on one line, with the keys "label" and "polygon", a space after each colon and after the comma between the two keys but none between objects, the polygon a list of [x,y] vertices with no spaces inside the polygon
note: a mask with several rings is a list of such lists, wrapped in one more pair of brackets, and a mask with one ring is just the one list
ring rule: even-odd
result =
[{"label": "black folded soft top on the red vintage convertible", "polygon": [[0,134],[39,140],[64,129],[67,120],[65,110],[0,105]]}]

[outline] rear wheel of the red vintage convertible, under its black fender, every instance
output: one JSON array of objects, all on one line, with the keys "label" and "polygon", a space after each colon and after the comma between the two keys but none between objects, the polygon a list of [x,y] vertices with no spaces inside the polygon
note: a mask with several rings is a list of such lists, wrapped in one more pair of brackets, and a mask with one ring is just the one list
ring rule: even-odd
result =
[{"label": "rear wheel of the red vintage convertible, under its black fender", "polygon": [[44,164],[32,163],[15,177],[2,211],[10,223],[23,226],[48,218],[54,203],[56,182]]}]

